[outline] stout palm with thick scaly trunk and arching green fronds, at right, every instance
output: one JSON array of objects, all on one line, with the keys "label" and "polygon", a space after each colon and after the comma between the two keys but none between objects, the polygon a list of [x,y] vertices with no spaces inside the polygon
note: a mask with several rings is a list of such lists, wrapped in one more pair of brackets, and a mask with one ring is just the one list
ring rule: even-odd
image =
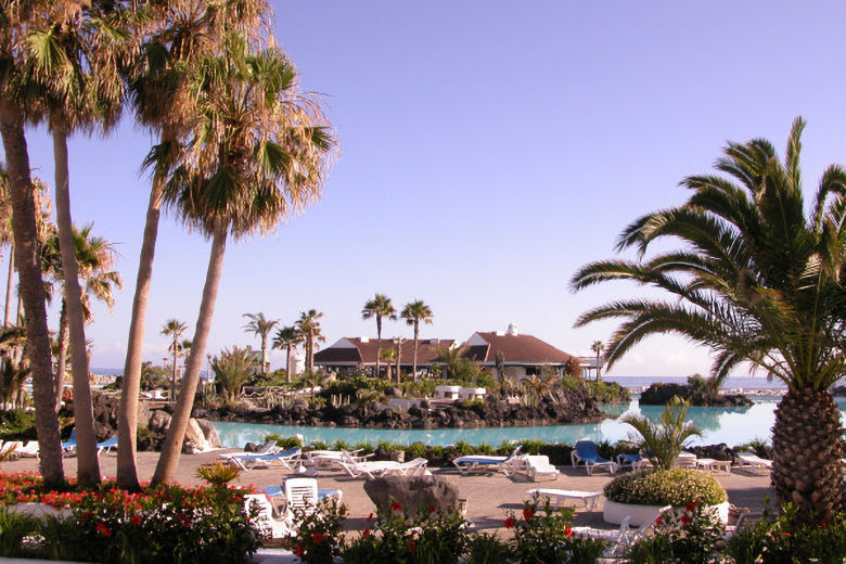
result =
[{"label": "stout palm with thick scaly trunk and arching green fronds, at right", "polygon": [[836,165],[823,172],[806,215],[804,127],[793,123],[783,162],[766,140],[729,143],[715,165],[726,176],[685,178],[684,204],[639,218],[618,242],[641,257],[668,238],[684,247],[587,265],[572,285],[632,280],[671,296],[617,300],[579,317],[579,326],[624,320],[606,349],[610,367],[645,336],[676,333],[717,352],[714,377],[748,362],[784,382],[772,484],[800,515],[829,518],[842,507],[844,483],[839,411],[828,389],[846,368],[846,172]]}]

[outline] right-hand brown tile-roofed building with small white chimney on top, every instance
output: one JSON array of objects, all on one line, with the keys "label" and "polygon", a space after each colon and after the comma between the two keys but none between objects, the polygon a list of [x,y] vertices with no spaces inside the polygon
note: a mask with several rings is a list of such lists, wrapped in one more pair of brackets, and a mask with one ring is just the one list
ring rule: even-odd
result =
[{"label": "right-hand brown tile-roofed building with small white chimney on top", "polygon": [[497,355],[502,356],[505,374],[514,380],[540,375],[543,370],[554,370],[561,376],[565,368],[578,366],[581,360],[564,352],[531,335],[521,335],[512,323],[507,332],[476,332],[462,345],[467,346],[466,356],[484,368],[497,364]]}]

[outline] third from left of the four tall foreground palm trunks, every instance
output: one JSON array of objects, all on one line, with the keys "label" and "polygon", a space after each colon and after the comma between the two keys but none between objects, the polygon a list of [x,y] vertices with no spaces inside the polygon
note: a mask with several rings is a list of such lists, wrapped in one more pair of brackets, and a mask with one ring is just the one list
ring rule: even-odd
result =
[{"label": "third from left of the four tall foreground palm trunks", "polygon": [[[170,137],[162,132],[163,142]],[[150,297],[150,285],[153,280],[153,261],[158,236],[158,218],[162,209],[162,193],[164,192],[166,175],[156,174],[150,191],[150,202],[146,207],[144,236],[141,243],[141,255],[138,259],[138,277],[136,279],[136,295],[132,298],[132,320],[129,323],[126,362],[120,389],[120,412],[117,418],[117,485],[121,488],[137,490],[138,464],[136,454],[136,434],[138,430],[138,397],[141,393],[141,352],[144,346],[144,323],[146,306]]]}]

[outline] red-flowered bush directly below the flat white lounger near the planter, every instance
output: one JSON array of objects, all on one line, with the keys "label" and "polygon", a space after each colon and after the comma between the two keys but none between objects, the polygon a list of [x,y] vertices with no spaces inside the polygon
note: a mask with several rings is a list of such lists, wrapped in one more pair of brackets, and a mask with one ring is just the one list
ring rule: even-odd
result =
[{"label": "red-flowered bush directly below the flat white lounger near the planter", "polygon": [[505,528],[514,531],[511,541],[515,562],[588,564],[597,561],[605,541],[573,534],[573,509],[553,509],[549,499],[542,507],[537,500],[526,501],[522,517],[509,513]]}]

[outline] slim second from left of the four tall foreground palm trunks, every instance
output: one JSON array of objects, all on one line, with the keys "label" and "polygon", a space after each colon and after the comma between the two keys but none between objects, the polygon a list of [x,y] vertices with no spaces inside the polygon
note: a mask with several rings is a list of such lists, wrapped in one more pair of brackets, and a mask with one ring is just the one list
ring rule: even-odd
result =
[{"label": "slim second from left of the four tall foreground palm trunks", "polygon": [[94,435],[94,408],[88,382],[82,289],[76,264],[76,246],[70,220],[70,187],[67,168],[67,130],[64,124],[52,121],[53,158],[55,161],[55,215],[59,228],[59,251],[62,254],[62,275],[70,333],[70,374],[74,382],[74,419],[76,420],[77,480],[80,486],[100,483],[100,462]]}]

